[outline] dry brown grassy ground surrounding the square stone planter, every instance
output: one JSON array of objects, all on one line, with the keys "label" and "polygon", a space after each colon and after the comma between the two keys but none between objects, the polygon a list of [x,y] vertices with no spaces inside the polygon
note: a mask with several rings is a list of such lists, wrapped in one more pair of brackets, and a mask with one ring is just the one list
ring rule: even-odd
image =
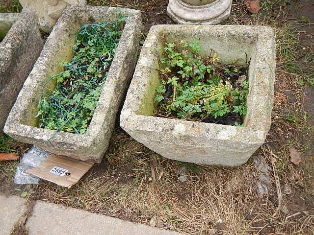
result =
[{"label": "dry brown grassy ground surrounding the square stone planter", "polygon": [[[141,9],[143,37],[151,25],[171,23],[165,11],[167,0],[88,2]],[[117,127],[107,160],[94,166],[71,189],[42,182],[33,199],[144,224],[156,216],[162,228],[195,235],[314,234],[314,120],[303,112],[302,104],[313,63],[305,63],[309,69],[296,66],[299,56],[313,52],[313,47],[300,52],[301,33],[291,34],[287,0],[261,2],[260,13],[252,17],[242,0],[234,1],[231,20],[226,22],[270,25],[276,33],[272,125],[265,144],[247,164],[219,168],[164,159]],[[289,161],[290,146],[303,152],[300,165]],[[252,161],[256,156],[270,166],[273,183],[269,195],[263,197],[257,193],[260,172]],[[182,166],[189,174],[185,182],[177,175]],[[278,206],[280,210],[275,213]],[[223,225],[216,224],[219,219]]]}]

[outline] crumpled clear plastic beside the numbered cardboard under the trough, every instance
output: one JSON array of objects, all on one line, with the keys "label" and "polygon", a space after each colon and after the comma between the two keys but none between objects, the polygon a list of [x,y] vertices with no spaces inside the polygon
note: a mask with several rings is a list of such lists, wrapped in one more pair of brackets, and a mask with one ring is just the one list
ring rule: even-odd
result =
[{"label": "crumpled clear plastic beside the numbered cardboard under the trough", "polygon": [[40,179],[26,173],[26,170],[36,167],[47,159],[50,152],[33,146],[23,154],[21,162],[16,167],[14,183],[17,185],[38,184]]}]

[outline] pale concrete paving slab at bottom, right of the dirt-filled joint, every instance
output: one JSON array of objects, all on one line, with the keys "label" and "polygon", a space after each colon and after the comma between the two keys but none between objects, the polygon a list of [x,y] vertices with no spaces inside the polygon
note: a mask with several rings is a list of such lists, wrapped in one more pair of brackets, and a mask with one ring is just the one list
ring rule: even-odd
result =
[{"label": "pale concrete paving slab at bottom, right of the dirt-filled joint", "polygon": [[42,201],[36,202],[26,230],[28,235],[180,235]]}]

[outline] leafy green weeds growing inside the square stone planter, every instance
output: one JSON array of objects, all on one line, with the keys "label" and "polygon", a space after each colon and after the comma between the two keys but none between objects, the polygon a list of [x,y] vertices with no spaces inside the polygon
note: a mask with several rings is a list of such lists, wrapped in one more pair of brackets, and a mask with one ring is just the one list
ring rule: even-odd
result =
[{"label": "leafy green weeds growing inside the square stone planter", "polygon": [[196,40],[166,43],[163,50],[162,79],[155,96],[157,116],[203,121],[230,113],[246,115],[248,81],[238,79],[232,84],[229,79],[229,74],[239,72],[237,66],[221,67],[214,51],[209,58],[202,57]]}]

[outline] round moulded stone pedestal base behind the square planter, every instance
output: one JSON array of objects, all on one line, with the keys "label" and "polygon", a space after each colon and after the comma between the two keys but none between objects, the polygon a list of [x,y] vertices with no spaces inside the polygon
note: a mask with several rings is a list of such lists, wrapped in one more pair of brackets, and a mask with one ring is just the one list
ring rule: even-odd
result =
[{"label": "round moulded stone pedestal base behind the square planter", "polygon": [[230,16],[232,0],[169,0],[168,16],[178,24],[219,24]]}]

